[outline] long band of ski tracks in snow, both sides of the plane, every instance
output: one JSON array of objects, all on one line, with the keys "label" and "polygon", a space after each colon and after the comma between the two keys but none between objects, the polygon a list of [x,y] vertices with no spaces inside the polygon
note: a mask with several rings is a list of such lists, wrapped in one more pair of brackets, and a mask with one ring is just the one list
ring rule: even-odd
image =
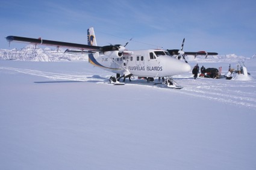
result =
[{"label": "long band of ski tracks in snow, both sides of the plane", "polygon": [[[52,80],[70,80],[81,82],[97,82],[107,83],[108,76],[101,77],[98,75],[84,75],[83,73],[61,74],[51,73],[47,71],[30,70],[25,68],[0,67],[2,70],[11,70],[18,73],[31,74],[34,76],[42,76]],[[184,88],[182,90],[173,90],[169,88],[158,88],[152,83],[143,82],[140,80],[132,80],[126,85],[143,85],[148,88],[155,87],[158,90],[172,91],[172,93],[181,93],[194,97],[201,97],[208,100],[216,100],[217,102],[227,103],[230,105],[245,106],[251,109],[256,109],[256,91],[246,91],[246,88],[254,88],[255,82],[252,81],[236,81],[223,79],[205,79],[198,78],[194,80],[192,77],[174,79]],[[240,90],[237,90],[237,88]],[[233,90],[236,88],[236,90]],[[210,103],[209,103],[210,105]]]}]

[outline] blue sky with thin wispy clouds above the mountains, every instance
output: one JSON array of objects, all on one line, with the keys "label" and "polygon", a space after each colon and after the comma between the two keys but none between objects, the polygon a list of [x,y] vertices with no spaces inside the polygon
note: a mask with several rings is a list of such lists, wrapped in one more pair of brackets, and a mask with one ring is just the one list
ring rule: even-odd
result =
[{"label": "blue sky with thin wispy clouds above the mountains", "polygon": [[87,43],[93,26],[99,46],[125,44],[130,50],[163,47],[206,50],[220,55],[256,54],[256,1],[2,1],[0,48],[21,48],[4,37],[16,35]]}]

